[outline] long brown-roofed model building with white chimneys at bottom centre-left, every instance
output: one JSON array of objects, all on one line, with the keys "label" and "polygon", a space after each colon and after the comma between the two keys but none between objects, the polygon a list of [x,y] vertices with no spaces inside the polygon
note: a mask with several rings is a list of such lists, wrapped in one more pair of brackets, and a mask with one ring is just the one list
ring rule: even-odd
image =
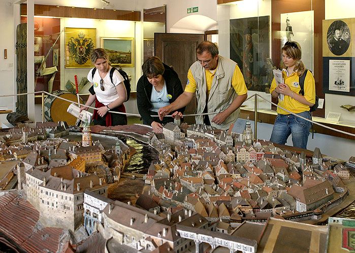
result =
[{"label": "long brown-roofed model building with white chimneys at bottom centre-left", "polygon": [[[125,215],[122,215],[125,214]],[[183,210],[168,214],[166,219],[138,207],[115,201],[108,204],[103,212],[105,235],[118,243],[129,245],[136,250],[152,251],[157,245],[168,243],[174,251],[183,252],[191,241],[183,239],[176,232],[178,224],[207,228],[207,221],[199,214]]]}]

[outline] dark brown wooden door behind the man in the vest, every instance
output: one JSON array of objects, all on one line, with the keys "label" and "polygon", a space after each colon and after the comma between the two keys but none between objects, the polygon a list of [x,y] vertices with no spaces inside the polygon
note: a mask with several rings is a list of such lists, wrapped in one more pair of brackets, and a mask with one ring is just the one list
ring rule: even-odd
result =
[{"label": "dark brown wooden door behind the man in the vest", "polygon": [[[155,56],[173,66],[181,80],[182,88],[187,83],[187,71],[197,59],[196,47],[204,40],[204,34],[154,33]],[[195,95],[186,106],[184,114],[193,114],[197,106]],[[195,117],[185,117],[184,122],[195,123]]]}]

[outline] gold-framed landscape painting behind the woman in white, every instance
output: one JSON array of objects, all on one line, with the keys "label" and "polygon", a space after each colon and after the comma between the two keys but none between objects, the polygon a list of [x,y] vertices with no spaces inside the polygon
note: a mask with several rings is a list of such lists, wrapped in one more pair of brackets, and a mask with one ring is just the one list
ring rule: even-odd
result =
[{"label": "gold-framed landscape painting behind the woman in white", "polygon": [[134,38],[101,37],[101,48],[114,67],[134,67]]}]

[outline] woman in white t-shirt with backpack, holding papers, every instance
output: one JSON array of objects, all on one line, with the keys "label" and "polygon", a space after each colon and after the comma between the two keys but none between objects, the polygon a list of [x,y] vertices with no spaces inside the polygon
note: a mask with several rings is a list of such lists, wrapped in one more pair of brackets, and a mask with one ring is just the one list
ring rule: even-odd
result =
[{"label": "woman in white t-shirt with backpack, holding papers", "polygon": [[126,90],[123,83],[123,77],[118,71],[113,72],[112,81],[110,78],[111,63],[109,55],[105,49],[98,48],[92,51],[90,56],[91,62],[94,64],[96,70],[92,75],[92,68],[87,79],[92,83],[90,88],[90,96],[82,106],[81,110],[87,110],[87,106],[95,101],[93,122],[95,125],[124,125],[127,124],[125,114],[109,113],[109,111],[125,112],[123,102],[126,101]]}]

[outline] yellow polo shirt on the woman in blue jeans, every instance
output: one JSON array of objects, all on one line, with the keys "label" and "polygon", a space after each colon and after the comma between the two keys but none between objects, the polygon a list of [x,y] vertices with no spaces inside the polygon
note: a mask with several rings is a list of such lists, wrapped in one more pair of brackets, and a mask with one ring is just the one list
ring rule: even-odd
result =
[{"label": "yellow polo shirt on the woman in blue jeans", "polygon": [[[288,85],[291,91],[293,91],[296,94],[300,94],[300,90],[301,90],[300,83],[299,83],[300,77],[298,76],[297,72],[293,72],[292,74],[287,76],[287,70],[283,69],[282,77],[285,85]],[[271,83],[270,93],[272,93],[272,91],[276,89],[276,86],[277,85],[274,78]],[[310,71],[307,71],[307,75],[304,80],[304,97],[308,102],[313,104],[315,103],[315,82],[314,82],[313,75]],[[298,102],[296,99],[291,98],[291,96],[286,96],[286,95],[283,96],[282,101],[279,100],[278,105],[293,113],[301,113],[304,111],[309,111],[308,105],[304,105]],[[279,107],[277,107],[276,111],[277,113],[280,114],[289,114],[289,112]]]}]

